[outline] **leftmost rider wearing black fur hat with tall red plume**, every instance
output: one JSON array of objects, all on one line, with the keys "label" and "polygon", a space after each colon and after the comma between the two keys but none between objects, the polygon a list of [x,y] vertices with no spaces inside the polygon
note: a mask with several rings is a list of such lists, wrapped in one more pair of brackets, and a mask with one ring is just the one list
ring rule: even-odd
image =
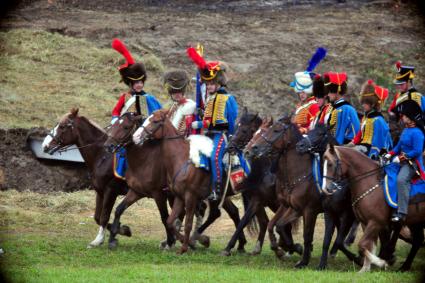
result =
[{"label": "leftmost rider wearing black fur hat with tall red plume", "polygon": [[[137,115],[148,117],[155,110],[161,109],[162,107],[158,100],[143,90],[147,78],[143,63],[136,63],[124,43],[119,39],[112,41],[112,48],[121,53],[125,58],[126,62],[118,70],[122,81],[129,87],[129,90],[121,94],[112,110],[111,124],[114,124],[121,115],[127,112],[134,112]],[[121,148],[114,157],[115,176],[125,179],[126,168],[126,152],[124,148]]]}]

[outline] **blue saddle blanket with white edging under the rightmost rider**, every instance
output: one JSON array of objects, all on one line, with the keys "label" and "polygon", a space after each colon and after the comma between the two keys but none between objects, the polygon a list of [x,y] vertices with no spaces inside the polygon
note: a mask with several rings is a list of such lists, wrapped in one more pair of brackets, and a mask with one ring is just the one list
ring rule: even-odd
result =
[{"label": "blue saddle blanket with white edging under the rightmost rider", "polygon": [[[397,174],[400,171],[400,165],[391,163],[385,167],[384,178],[384,195],[388,205],[392,208],[397,208]],[[412,180],[410,184],[410,198],[418,195],[425,194],[425,181]]]}]

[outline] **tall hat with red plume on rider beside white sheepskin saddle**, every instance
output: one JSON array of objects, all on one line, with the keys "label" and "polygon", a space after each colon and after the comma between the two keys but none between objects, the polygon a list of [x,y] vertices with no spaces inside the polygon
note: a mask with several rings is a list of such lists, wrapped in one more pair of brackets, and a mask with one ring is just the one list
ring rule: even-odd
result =
[{"label": "tall hat with red plume on rider beside white sheepskin saddle", "polygon": [[202,81],[214,80],[222,86],[227,84],[227,77],[225,75],[226,68],[221,62],[205,61],[205,59],[193,47],[189,47],[187,49],[187,55],[198,66]]}]

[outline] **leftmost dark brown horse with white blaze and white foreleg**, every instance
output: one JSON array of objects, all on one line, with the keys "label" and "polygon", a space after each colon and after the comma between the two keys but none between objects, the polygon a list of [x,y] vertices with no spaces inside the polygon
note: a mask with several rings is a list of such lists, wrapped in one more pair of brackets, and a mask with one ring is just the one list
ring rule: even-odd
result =
[{"label": "leftmost dark brown horse with white blaze and white foreleg", "polygon": [[[43,142],[44,152],[53,154],[58,150],[75,144],[90,172],[91,183],[96,191],[96,208],[94,219],[99,225],[96,238],[88,248],[103,244],[112,208],[118,195],[125,195],[128,187],[125,181],[114,176],[113,156],[103,144],[106,132],[84,116],[78,116],[78,108],[72,108],[65,114]],[[123,225],[120,234],[131,236],[131,230]]]}]

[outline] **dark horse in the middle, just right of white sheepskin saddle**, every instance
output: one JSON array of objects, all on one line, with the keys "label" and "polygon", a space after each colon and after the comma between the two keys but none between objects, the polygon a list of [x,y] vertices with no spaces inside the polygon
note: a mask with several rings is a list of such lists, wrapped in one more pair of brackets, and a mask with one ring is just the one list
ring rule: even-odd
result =
[{"label": "dark horse in the middle, just right of white sheepskin saddle", "polygon": [[[242,115],[238,121],[236,132],[233,135],[232,139],[229,141],[228,152],[231,154],[236,154],[239,151],[242,151],[246,144],[252,139],[255,133],[260,133],[267,129],[273,123],[273,119],[264,119],[262,120],[257,114],[248,113],[247,108],[245,107],[242,111]],[[244,192],[245,196],[248,197],[249,205],[245,210],[245,214],[241,219],[235,233],[233,234],[231,240],[227,244],[226,248],[223,250],[223,255],[230,255],[232,248],[236,244],[236,240],[239,236],[239,233],[250,223],[250,220],[256,216],[260,231],[258,234],[257,242],[252,255],[257,255],[261,253],[262,246],[264,243],[264,237],[266,234],[267,224],[269,219],[266,214],[265,207],[269,207],[273,212],[279,207],[278,202],[276,201],[275,195],[275,175],[270,172],[271,160],[270,158],[259,158],[254,159],[251,164],[251,172],[247,178],[242,182],[240,186],[236,189],[236,192]],[[302,247],[299,244],[293,243],[292,226],[288,224],[287,229],[285,229],[284,235],[281,235],[280,239],[288,239],[288,243],[282,244],[284,249],[288,250],[290,253],[297,252],[302,254]]]}]

